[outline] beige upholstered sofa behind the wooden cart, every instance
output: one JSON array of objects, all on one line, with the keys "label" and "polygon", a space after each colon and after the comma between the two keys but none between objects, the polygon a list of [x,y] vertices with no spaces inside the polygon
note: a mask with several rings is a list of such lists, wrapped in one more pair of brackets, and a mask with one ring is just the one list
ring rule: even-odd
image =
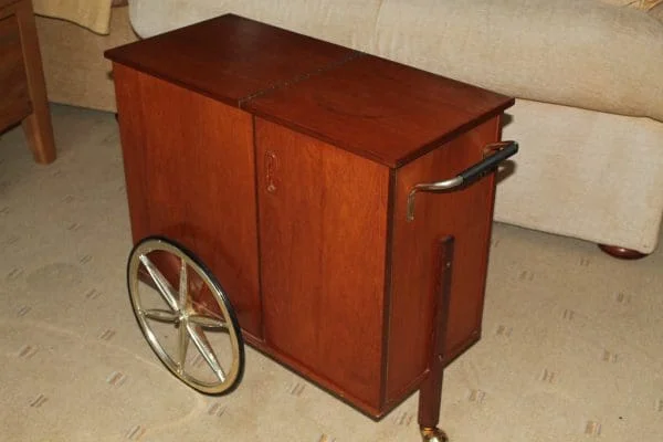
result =
[{"label": "beige upholstered sofa behind the wooden cart", "polygon": [[[504,137],[522,149],[498,186],[496,220],[646,254],[663,217],[663,4],[649,10],[657,2],[129,0],[129,9],[141,36],[234,12],[513,95]],[[126,8],[113,15],[126,20]],[[126,25],[114,23],[102,46]],[[106,92],[91,99],[86,86],[80,104],[113,108],[110,85],[96,83]],[[50,88],[52,99],[62,90]]]}]

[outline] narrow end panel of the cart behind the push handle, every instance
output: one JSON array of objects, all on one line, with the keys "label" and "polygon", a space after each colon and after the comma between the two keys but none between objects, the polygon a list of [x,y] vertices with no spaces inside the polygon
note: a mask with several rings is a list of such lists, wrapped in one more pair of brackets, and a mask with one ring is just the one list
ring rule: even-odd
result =
[{"label": "narrow end panel of the cart behind the push handle", "polygon": [[481,124],[397,170],[388,348],[388,407],[418,387],[431,357],[438,241],[455,238],[449,328],[444,360],[474,344],[481,333],[494,177],[445,193],[417,193],[414,220],[408,221],[410,189],[420,182],[455,177],[478,162],[498,137],[498,117]]}]

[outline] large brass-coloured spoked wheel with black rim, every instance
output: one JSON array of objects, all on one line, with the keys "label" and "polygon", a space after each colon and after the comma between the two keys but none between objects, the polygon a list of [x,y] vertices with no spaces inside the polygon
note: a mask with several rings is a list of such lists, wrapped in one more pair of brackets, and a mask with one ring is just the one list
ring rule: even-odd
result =
[{"label": "large brass-coloured spoked wheel with black rim", "polygon": [[244,370],[244,341],[223,288],[200,260],[160,236],[141,240],[127,263],[138,325],[161,362],[198,391],[232,389]]}]

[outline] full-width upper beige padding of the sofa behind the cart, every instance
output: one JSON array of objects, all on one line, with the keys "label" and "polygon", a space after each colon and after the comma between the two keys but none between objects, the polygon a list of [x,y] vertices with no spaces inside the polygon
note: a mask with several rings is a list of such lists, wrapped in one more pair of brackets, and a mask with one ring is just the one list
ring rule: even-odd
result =
[{"label": "full-width upper beige padding of the sofa behind the cart", "polygon": [[663,25],[600,0],[131,0],[152,35],[240,15],[506,95],[663,120]]}]

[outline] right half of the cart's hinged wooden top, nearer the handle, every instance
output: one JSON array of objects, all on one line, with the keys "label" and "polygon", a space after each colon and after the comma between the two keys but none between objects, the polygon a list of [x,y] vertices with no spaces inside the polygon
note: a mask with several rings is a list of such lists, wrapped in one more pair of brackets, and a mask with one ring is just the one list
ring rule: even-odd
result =
[{"label": "right half of the cart's hinged wooden top, nearer the handle", "polygon": [[512,104],[499,94],[362,55],[257,96],[245,108],[400,167]]}]

